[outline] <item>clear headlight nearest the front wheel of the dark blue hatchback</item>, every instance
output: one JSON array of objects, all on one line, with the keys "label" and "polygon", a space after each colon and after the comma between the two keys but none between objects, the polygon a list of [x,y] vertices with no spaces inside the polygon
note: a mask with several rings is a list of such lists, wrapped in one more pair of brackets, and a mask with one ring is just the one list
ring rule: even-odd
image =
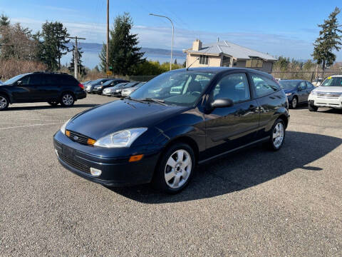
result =
[{"label": "clear headlight nearest the front wheel of the dark blue hatchback", "polygon": [[94,146],[106,148],[130,147],[130,145],[147,131],[147,128],[125,129],[115,133],[111,133],[103,138],[98,139]]}]

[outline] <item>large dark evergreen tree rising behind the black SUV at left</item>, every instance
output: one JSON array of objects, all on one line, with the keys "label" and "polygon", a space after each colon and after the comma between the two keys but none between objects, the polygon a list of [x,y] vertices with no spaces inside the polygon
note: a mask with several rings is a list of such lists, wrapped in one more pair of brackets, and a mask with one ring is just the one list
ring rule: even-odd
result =
[{"label": "large dark evergreen tree rising behind the black SUV at left", "polygon": [[68,42],[70,39],[67,29],[61,22],[48,22],[41,26],[41,32],[34,35],[38,46],[38,58],[48,66],[50,70],[61,69],[61,57],[68,53]]}]

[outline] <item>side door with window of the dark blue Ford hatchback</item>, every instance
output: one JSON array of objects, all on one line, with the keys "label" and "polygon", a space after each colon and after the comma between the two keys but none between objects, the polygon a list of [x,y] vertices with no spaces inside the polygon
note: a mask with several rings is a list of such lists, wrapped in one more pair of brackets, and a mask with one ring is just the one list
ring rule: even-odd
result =
[{"label": "side door with window of the dark blue Ford hatchback", "polygon": [[238,148],[254,140],[259,126],[257,101],[252,99],[247,74],[223,76],[209,94],[209,101],[231,99],[230,107],[204,114],[207,156]]}]

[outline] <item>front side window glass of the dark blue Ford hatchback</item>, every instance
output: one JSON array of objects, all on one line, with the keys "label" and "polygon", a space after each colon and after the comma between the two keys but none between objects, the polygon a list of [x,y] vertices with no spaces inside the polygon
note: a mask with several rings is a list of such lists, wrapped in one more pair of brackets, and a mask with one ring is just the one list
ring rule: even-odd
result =
[{"label": "front side window glass of the dark blue Ford hatchback", "polygon": [[214,100],[232,99],[234,103],[251,99],[246,74],[224,76],[213,91]]}]

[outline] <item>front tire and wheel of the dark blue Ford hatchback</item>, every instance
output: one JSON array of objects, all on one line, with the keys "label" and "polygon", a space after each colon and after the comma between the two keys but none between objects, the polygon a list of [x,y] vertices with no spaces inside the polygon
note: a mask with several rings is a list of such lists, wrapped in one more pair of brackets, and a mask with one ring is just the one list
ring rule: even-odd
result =
[{"label": "front tire and wheel of the dark blue Ford hatchback", "polygon": [[[177,161],[180,156],[183,156],[182,161]],[[179,193],[191,180],[195,163],[195,153],[189,145],[173,144],[162,153],[152,179],[152,186],[165,193]]]}]

